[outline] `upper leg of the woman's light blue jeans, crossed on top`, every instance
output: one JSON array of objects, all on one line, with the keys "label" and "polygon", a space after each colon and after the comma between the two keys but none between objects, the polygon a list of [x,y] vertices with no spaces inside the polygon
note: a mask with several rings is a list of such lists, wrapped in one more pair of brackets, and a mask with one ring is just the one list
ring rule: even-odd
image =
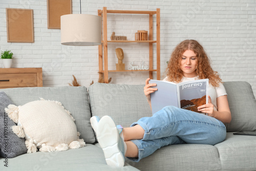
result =
[{"label": "upper leg of the woman's light blue jeans, crossed on top", "polygon": [[174,106],[166,106],[152,117],[143,117],[131,126],[136,124],[145,130],[142,140],[178,136],[186,143],[214,145],[226,137],[226,127],[218,119]]}]

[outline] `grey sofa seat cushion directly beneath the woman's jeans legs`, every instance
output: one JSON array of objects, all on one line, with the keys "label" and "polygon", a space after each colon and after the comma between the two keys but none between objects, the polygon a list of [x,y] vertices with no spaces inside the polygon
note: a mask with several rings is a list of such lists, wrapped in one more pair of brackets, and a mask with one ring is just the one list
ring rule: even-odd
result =
[{"label": "grey sofa seat cushion directly beneath the woman's jeans legs", "polygon": [[126,161],[139,170],[221,170],[218,150],[204,144],[177,144],[158,149],[138,163]]}]

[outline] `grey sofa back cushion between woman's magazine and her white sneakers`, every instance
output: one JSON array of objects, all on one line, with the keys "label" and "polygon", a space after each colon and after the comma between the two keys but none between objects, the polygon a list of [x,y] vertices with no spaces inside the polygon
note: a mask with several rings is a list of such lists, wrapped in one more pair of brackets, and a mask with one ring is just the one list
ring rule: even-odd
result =
[{"label": "grey sofa back cushion between woman's magazine and her white sneakers", "polygon": [[152,116],[143,85],[94,83],[88,88],[92,116],[111,116],[116,124],[130,126],[141,117]]}]

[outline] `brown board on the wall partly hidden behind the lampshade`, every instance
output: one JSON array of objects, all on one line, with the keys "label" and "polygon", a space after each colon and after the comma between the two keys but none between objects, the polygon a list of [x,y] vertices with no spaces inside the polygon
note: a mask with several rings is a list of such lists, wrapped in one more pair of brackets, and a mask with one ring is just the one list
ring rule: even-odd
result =
[{"label": "brown board on the wall partly hidden behind the lampshade", "polygon": [[60,29],[60,16],[72,14],[72,0],[47,0],[48,29]]}]

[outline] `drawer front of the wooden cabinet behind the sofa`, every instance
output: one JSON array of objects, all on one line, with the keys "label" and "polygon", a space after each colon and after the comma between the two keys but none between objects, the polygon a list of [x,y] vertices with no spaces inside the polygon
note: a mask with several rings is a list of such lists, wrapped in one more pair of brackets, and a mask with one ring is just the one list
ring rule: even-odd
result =
[{"label": "drawer front of the wooden cabinet behind the sofa", "polygon": [[0,74],[0,88],[13,87],[37,87],[37,74]]}]

